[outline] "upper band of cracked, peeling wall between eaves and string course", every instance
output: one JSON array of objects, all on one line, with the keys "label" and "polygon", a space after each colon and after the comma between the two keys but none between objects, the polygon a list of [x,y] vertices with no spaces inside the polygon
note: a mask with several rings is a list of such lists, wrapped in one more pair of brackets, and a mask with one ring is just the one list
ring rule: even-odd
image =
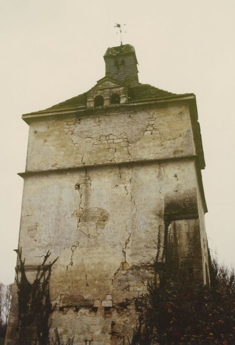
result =
[{"label": "upper band of cracked, peeling wall between eaves and string course", "polygon": [[195,154],[187,105],[103,110],[99,116],[30,125],[28,171]]}]

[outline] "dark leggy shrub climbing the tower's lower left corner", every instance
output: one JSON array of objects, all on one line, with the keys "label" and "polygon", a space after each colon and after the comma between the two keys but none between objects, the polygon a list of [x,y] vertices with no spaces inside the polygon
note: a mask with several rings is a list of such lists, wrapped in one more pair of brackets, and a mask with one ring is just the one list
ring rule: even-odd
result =
[{"label": "dark leggy shrub climbing the tower's lower left corner", "polygon": [[[22,260],[22,248],[17,253],[19,266],[16,269],[16,284],[18,287],[18,332],[19,345],[64,345],[60,340],[58,329],[55,328],[55,340],[49,339],[49,317],[53,311],[50,301],[49,280],[52,266],[58,257],[47,264],[51,253],[48,250],[42,264],[37,266],[36,276],[30,283],[26,276],[25,259]],[[33,335],[36,328],[36,337]],[[36,339],[34,339],[36,338]],[[74,337],[67,340],[66,345],[73,345]]]}]

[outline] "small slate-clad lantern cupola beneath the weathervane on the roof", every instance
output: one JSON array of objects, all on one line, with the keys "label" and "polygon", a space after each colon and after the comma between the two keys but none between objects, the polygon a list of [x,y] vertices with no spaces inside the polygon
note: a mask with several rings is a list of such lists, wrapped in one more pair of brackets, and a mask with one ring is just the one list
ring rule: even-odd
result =
[{"label": "small slate-clad lantern cupola beneath the weathervane on the roof", "polygon": [[139,84],[138,62],[134,47],[131,44],[108,48],[103,58],[105,61],[105,76],[114,78],[131,87]]}]

